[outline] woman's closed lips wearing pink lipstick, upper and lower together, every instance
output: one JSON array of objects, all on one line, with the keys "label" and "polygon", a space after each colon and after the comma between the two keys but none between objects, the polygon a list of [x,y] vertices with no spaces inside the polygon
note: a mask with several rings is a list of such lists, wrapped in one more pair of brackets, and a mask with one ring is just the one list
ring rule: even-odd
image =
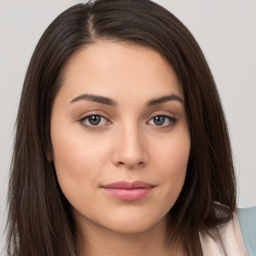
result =
[{"label": "woman's closed lips wearing pink lipstick, upper and lower together", "polygon": [[117,181],[102,185],[101,188],[107,194],[125,201],[136,201],[142,199],[154,188],[154,185],[141,180],[133,182]]}]

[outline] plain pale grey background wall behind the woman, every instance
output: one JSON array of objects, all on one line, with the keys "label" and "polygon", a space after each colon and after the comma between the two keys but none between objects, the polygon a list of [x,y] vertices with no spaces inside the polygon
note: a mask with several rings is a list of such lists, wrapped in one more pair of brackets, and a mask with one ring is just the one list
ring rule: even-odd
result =
[{"label": "plain pale grey background wall behind the woman", "polygon": [[[155,1],[190,29],[206,56],[228,120],[238,206],[256,205],[256,0]],[[43,30],[77,2],[0,0],[0,250],[13,125],[25,70]]]}]

